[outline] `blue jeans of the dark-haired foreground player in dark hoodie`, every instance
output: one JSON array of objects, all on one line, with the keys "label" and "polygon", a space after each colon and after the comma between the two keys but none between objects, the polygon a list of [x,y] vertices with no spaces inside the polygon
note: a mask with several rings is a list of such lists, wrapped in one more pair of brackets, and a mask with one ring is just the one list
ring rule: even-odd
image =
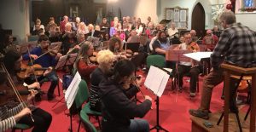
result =
[{"label": "blue jeans of the dark-haired foreground player in dark hoodie", "polygon": [[149,131],[148,121],[144,119],[131,119],[130,131],[131,132],[148,132]]}]

